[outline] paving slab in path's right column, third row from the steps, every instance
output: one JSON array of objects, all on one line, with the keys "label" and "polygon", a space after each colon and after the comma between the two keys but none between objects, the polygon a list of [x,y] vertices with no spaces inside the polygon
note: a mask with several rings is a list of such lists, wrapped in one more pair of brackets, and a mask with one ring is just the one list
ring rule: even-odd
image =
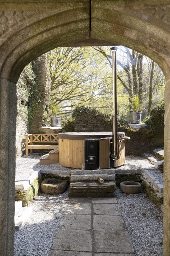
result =
[{"label": "paving slab in path's right column, third row from the steps", "polygon": [[119,215],[94,215],[94,230],[126,230]]}]

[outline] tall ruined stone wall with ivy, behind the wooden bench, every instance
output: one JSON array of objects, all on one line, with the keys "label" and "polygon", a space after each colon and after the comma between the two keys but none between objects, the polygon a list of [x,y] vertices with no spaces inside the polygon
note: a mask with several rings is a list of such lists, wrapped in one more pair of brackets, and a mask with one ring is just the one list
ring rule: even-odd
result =
[{"label": "tall ruined stone wall with ivy, behind the wooden bench", "polygon": [[[28,74],[27,74],[28,75]],[[51,79],[45,55],[34,60],[33,74],[31,79],[35,79],[36,83],[29,84],[29,79],[24,71],[22,71],[17,82],[17,128],[16,128],[16,157],[23,155],[25,150],[25,138],[28,133],[38,133],[42,125],[46,125],[45,111],[48,113]],[[40,99],[36,103],[37,108],[34,117],[29,124],[28,109],[35,100],[31,97],[33,86],[39,91]],[[33,108],[34,111],[34,108]],[[43,130],[40,131],[41,133]]]}]

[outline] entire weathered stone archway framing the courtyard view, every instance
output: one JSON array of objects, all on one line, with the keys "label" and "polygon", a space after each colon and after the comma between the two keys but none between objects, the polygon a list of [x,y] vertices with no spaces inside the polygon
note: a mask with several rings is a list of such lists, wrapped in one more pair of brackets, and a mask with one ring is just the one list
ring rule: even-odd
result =
[{"label": "entire weathered stone archway framing the courtyard view", "polygon": [[16,82],[26,64],[57,46],[124,45],[165,74],[164,256],[170,251],[169,0],[0,0],[0,254],[13,255]]}]

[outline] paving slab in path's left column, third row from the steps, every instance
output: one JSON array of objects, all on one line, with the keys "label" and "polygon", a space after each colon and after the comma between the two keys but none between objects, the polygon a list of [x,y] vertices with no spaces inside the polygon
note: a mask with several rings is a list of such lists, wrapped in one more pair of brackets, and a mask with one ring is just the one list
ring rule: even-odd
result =
[{"label": "paving slab in path's left column, third row from the steps", "polygon": [[60,222],[60,229],[90,230],[91,215],[87,214],[66,214]]}]

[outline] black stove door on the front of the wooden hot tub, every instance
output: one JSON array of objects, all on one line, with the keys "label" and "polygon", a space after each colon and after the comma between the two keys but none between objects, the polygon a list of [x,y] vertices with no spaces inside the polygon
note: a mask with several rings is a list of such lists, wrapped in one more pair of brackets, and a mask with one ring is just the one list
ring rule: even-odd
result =
[{"label": "black stove door on the front of the wooden hot tub", "polygon": [[98,140],[85,140],[84,141],[84,167],[85,169],[98,169],[99,168],[99,143]]}]

